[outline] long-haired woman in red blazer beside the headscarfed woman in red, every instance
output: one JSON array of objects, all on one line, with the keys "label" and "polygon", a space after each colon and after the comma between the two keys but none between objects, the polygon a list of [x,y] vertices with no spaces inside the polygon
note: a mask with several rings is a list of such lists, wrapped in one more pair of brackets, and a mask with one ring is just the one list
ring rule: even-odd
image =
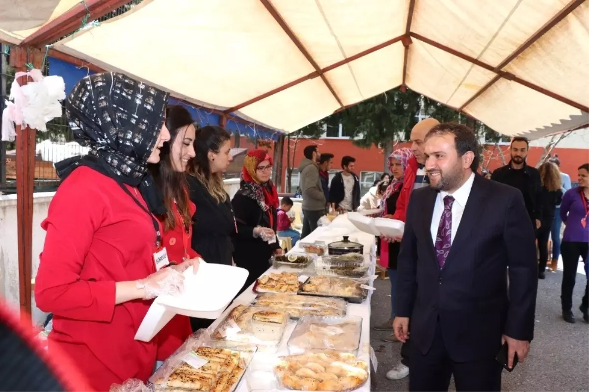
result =
[{"label": "long-haired woman in red blazer beside the headscarfed woman in red", "polygon": [[[193,259],[194,270],[198,267],[200,255],[191,248],[192,217],[196,206],[188,197],[186,165],[194,158],[193,142],[196,128],[190,112],[180,105],[166,109],[166,128],[170,141],[160,150],[160,162],[151,166],[155,184],[161,190],[166,205],[166,214],[158,215],[164,228],[162,237],[171,264],[181,264]],[[190,318],[176,315],[158,333],[157,360],[166,360],[192,333]]]}]

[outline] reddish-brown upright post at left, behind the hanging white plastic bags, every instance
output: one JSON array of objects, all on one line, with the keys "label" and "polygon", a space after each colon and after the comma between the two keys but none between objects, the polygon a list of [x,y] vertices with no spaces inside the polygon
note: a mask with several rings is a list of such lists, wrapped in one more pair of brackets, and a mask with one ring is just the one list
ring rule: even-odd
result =
[{"label": "reddish-brown upright post at left, behind the hanging white plastic bags", "polygon": [[[30,54],[30,56],[29,56]],[[16,72],[27,72],[28,62],[40,67],[35,52],[14,46],[11,64]],[[35,61],[37,60],[37,61]],[[28,77],[18,79],[21,86],[28,83]],[[24,317],[31,313],[32,278],[32,225],[33,225],[33,185],[35,174],[35,135],[36,130],[16,126],[16,228],[18,231],[18,280],[19,300]]]}]

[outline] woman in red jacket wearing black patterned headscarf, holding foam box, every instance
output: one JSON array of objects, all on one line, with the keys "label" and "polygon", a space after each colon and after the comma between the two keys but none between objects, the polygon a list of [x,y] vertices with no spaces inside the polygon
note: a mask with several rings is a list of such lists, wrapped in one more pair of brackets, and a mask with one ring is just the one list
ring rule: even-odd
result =
[{"label": "woman in red jacket wearing black patterned headscarf, holding foam box", "polygon": [[163,245],[154,215],[166,214],[166,205],[147,164],[170,139],[167,100],[105,72],[81,79],[65,102],[74,137],[90,152],[55,164],[62,182],[41,224],[35,300],[54,314],[49,353],[58,347],[100,392],[151,376],[160,342],[134,340],[135,333],[151,299],[181,290],[179,271],[192,263],[164,268],[154,252]]}]

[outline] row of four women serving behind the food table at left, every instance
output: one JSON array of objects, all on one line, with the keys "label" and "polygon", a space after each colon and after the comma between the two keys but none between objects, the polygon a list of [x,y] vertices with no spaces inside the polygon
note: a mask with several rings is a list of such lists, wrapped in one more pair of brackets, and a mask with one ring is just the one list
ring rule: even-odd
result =
[{"label": "row of four women serving behind the food table at left", "polygon": [[249,151],[231,199],[229,133],[196,129],[185,107],[167,102],[167,93],[112,72],[83,78],[65,102],[90,152],[56,164],[62,183],[42,222],[35,300],[53,317],[49,350],[83,364],[97,391],[147,380],[211,324],[176,315],[150,342],[134,339],[150,300],[182,290],[188,268],[243,267],[243,291],[283,253],[272,158]]}]

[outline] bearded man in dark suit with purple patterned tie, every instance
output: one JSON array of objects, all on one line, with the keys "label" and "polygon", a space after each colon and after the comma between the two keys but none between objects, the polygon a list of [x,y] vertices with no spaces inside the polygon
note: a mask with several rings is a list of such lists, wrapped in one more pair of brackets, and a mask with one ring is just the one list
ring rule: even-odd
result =
[{"label": "bearded man in dark suit with purple patterned tie", "polygon": [[447,391],[452,374],[458,392],[500,391],[502,343],[511,367],[534,335],[534,230],[521,192],[475,174],[478,151],[464,125],[425,139],[430,186],[409,202],[393,323],[403,342],[411,331],[411,391]]}]

